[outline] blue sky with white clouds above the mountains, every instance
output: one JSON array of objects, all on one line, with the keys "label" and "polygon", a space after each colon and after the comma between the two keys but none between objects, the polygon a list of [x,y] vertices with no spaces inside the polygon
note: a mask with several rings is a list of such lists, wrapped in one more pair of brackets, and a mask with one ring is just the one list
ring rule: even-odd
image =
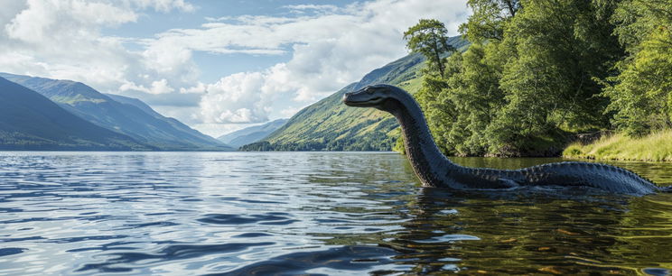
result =
[{"label": "blue sky with white clouds above the mountains", "polygon": [[0,0],[0,71],[135,97],[218,137],[289,118],[404,57],[466,0]]}]

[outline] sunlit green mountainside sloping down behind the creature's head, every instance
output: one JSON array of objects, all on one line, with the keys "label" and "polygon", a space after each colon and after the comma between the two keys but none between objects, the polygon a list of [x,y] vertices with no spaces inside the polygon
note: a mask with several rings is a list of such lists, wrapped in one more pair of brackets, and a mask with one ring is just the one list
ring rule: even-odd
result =
[{"label": "sunlit green mountainside sloping down behind the creature's head", "polygon": [[[464,50],[469,44],[461,37],[449,41]],[[415,93],[422,84],[420,69],[425,58],[410,54],[375,69],[359,82],[343,87],[329,97],[303,108],[264,141],[241,151],[390,151],[399,136],[397,121],[375,108],[354,108],[341,103],[346,92],[371,84],[390,84]]]}]

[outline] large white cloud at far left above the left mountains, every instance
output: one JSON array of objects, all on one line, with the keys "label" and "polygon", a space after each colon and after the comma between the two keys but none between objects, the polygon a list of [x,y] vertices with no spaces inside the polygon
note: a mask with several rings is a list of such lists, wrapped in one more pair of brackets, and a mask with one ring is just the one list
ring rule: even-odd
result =
[{"label": "large white cloud at far left above the left mountains", "polygon": [[[103,92],[168,94],[187,87],[199,71],[191,51],[147,47],[138,39],[104,36],[102,28],[135,23],[145,9],[192,12],[183,0],[27,0],[0,13],[0,68],[46,78],[73,79]],[[134,96],[127,95],[126,96]]]}]

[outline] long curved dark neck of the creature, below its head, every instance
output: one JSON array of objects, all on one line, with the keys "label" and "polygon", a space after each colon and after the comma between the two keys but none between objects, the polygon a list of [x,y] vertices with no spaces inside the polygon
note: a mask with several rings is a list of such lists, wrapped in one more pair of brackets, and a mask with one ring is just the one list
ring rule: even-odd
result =
[{"label": "long curved dark neck of the creature, below its head", "polygon": [[425,186],[450,186],[451,184],[447,182],[452,181],[447,179],[447,174],[460,167],[449,161],[439,151],[425,122],[425,115],[415,99],[408,94],[404,97],[407,98],[394,101],[392,104],[394,106],[390,106],[392,108],[387,110],[397,118],[401,125],[406,155],[415,174]]}]

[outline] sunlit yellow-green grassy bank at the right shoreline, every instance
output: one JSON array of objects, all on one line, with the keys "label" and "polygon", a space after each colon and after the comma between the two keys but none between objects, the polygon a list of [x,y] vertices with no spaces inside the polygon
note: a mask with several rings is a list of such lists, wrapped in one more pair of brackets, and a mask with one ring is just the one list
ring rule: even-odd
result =
[{"label": "sunlit yellow-green grassy bank at the right shoreline", "polygon": [[565,149],[563,156],[598,160],[672,161],[672,130],[642,138],[614,134],[594,143],[573,143]]}]

